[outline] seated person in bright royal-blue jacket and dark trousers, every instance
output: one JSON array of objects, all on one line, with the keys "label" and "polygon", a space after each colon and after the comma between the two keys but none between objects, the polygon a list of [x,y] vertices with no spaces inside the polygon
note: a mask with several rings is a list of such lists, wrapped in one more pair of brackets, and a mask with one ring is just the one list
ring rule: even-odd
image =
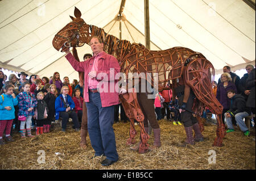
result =
[{"label": "seated person in bright royal-blue jacket and dark trousers", "polygon": [[59,117],[62,118],[61,131],[65,132],[70,117],[72,118],[75,131],[80,131],[77,113],[72,111],[75,108],[75,103],[71,96],[68,95],[68,91],[68,86],[61,87],[60,95],[55,100],[55,119],[58,120]]}]

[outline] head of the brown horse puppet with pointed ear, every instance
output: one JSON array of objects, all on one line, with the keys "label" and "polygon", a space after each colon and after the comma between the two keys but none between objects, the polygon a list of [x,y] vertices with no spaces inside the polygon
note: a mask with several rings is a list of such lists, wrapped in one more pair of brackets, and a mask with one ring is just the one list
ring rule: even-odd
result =
[{"label": "head of the brown horse puppet with pointed ear", "polygon": [[72,22],[57,32],[52,40],[52,45],[57,51],[61,49],[61,52],[64,52],[69,47],[81,47],[85,43],[89,44],[90,26],[81,18],[81,12],[76,7],[74,15],[76,18],[69,16]]}]

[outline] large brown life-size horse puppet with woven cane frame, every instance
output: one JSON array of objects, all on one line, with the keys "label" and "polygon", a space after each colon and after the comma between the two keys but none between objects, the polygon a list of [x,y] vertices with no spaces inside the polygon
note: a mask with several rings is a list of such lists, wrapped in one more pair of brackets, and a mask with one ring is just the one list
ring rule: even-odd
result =
[{"label": "large brown life-size horse puppet with woven cane frame", "polygon": [[[52,44],[56,50],[63,52],[69,47],[73,47],[73,55],[79,61],[76,47],[81,47],[85,43],[89,45],[90,37],[98,36],[104,42],[105,52],[117,58],[121,72],[126,75],[126,82],[129,81],[129,73],[133,73],[133,75],[134,73],[138,75],[144,73],[146,77],[143,78],[150,80],[152,87],[162,91],[166,89],[163,85],[166,85],[167,82],[177,82],[178,79],[183,79],[184,84],[189,87],[189,91],[192,89],[196,96],[191,111],[195,113],[197,120],[199,120],[201,132],[204,128],[203,124],[200,124],[198,115],[202,115],[203,108],[207,106],[212,113],[217,115],[217,137],[213,146],[222,146],[222,140],[226,134],[221,120],[223,107],[212,92],[213,65],[203,54],[184,47],[149,50],[142,44],[131,44],[130,41],[119,40],[117,37],[106,33],[102,28],[86,24],[81,18],[80,10],[76,7],[74,14],[76,18],[70,16],[72,22],[62,28],[53,38]],[[152,74],[155,74],[156,77]],[[80,80],[83,79],[82,73],[79,73],[79,77]],[[158,85],[154,85],[154,78],[158,80]],[[189,95],[189,91],[184,92],[184,97]],[[126,94],[119,95],[119,99],[127,117],[130,119],[130,138],[128,138],[126,144],[135,143],[134,137],[137,132],[134,128],[134,119],[136,119],[141,128],[139,153],[144,153],[148,149],[147,140],[149,136],[144,129],[144,115],[139,107],[136,92],[134,89],[128,91]]]}]

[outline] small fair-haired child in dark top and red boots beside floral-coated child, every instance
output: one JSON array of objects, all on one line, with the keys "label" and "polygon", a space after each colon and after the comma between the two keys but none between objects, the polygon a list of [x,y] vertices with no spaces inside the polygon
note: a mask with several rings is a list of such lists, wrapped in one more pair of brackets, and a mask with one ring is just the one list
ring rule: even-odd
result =
[{"label": "small fair-haired child in dark top and red boots beside floral-coated child", "polygon": [[[46,102],[44,102],[44,93],[38,92],[36,96],[38,98],[38,104],[35,109],[34,118],[36,119],[36,136],[43,134],[43,128],[46,129],[46,119],[48,116],[48,108]],[[49,132],[49,127],[47,127],[46,132]]]}]

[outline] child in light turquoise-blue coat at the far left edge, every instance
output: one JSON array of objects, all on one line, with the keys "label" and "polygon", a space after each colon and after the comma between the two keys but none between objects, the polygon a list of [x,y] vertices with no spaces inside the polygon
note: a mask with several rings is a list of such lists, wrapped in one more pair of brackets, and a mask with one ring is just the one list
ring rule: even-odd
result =
[{"label": "child in light turquoise-blue coat at the far left edge", "polygon": [[[5,131],[6,141],[14,141],[10,135],[13,119],[15,118],[15,108],[18,99],[13,93],[14,86],[6,85],[3,87],[0,96],[0,145],[5,144],[3,141],[3,131]],[[2,94],[2,92],[4,92]]]}]

